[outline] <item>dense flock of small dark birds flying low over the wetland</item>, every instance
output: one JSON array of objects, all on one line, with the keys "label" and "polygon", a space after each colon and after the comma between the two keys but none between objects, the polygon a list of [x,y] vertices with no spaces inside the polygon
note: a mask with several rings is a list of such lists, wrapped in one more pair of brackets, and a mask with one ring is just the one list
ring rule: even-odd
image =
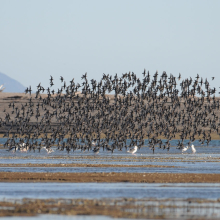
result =
[{"label": "dense flock of small dark birds flying low over the wetland", "polygon": [[[39,83],[35,97],[30,96],[25,105],[9,104],[12,111],[0,119],[6,130],[4,146],[23,152],[44,148],[48,153],[52,146],[68,153],[126,148],[134,154],[148,139],[154,153],[156,147],[169,151],[170,140],[178,137],[177,148],[184,152],[188,149],[184,140],[190,146],[198,137],[208,145],[211,133],[219,134],[219,100],[207,79],[198,74],[182,79],[181,74],[166,72],[151,76],[145,70],[142,76],[103,74],[97,81],[88,80],[86,73],[81,84],[72,79],[69,85],[61,76],[57,92],[51,76],[50,86]],[[25,93],[31,95],[31,87]],[[191,149],[196,152],[194,145]]]}]

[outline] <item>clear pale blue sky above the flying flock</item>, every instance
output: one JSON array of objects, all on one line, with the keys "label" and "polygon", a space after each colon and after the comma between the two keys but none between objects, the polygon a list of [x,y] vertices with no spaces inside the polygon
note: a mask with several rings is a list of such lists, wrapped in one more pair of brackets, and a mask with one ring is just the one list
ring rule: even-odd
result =
[{"label": "clear pale blue sky above the flying flock", "polygon": [[146,69],[199,74],[220,90],[219,9],[219,0],[0,0],[0,72],[32,88],[53,76],[56,89],[60,76]]}]

